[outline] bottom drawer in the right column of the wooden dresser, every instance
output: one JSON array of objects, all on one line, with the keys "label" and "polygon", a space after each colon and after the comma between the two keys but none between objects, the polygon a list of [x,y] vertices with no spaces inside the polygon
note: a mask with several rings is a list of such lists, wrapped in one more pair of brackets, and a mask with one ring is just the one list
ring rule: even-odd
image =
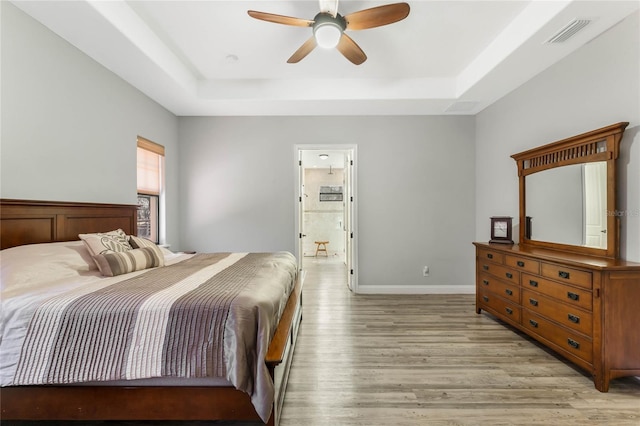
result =
[{"label": "bottom drawer in the right column of the wooden dresser", "polygon": [[591,339],[564,327],[559,327],[557,324],[536,315],[528,309],[522,310],[522,325],[588,363],[593,361],[593,343]]}]

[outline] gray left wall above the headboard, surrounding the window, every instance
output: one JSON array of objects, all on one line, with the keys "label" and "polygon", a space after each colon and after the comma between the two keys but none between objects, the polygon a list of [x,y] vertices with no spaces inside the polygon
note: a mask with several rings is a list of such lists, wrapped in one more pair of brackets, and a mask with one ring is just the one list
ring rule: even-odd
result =
[{"label": "gray left wall above the headboard, surrounding the window", "polygon": [[2,8],[0,196],[136,203],[136,138],[167,155],[178,243],[178,119],[11,3]]}]

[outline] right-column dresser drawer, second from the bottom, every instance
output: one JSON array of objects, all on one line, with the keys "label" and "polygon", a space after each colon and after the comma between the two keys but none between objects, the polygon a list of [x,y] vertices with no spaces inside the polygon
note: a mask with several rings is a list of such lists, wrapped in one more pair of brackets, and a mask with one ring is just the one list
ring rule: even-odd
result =
[{"label": "right-column dresser drawer, second from the bottom", "polygon": [[587,336],[593,336],[591,312],[565,305],[530,290],[522,290],[522,307]]}]

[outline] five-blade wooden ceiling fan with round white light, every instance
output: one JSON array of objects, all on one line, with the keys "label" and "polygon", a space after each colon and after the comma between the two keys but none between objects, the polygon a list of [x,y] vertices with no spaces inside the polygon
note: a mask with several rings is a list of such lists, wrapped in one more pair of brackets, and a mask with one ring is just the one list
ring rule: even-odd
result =
[{"label": "five-blade wooden ceiling fan with round white light", "polygon": [[319,0],[319,2],[320,12],[313,19],[294,18],[255,10],[249,10],[247,13],[252,18],[262,21],[313,28],[311,38],[304,42],[287,60],[290,64],[300,62],[316,46],[320,46],[337,48],[345,58],[356,65],[366,61],[367,55],[351,37],[345,34],[345,30],[355,31],[381,27],[401,21],[409,15],[407,3],[387,4],[342,16],[338,13],[338,0]]}]

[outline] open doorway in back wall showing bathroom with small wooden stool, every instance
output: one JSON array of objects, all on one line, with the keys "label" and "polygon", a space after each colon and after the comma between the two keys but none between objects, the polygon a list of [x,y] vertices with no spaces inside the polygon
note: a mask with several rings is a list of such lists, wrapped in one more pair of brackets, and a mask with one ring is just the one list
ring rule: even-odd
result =
[{"label": "open doorway in back wall showing bathroom with small wooden stool", "polygon": [[344,265],[345,282],[357,289],[355,146],[299,145],[296,252],[305,262]]}]

